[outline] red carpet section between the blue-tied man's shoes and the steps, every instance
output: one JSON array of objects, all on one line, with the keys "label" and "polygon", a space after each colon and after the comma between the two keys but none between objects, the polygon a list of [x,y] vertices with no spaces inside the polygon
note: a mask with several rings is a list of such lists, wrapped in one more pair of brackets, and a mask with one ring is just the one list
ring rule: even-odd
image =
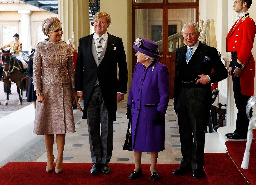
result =
[{"label": "red carpet section between the blue-tied man's shoes and the steps", "polygon": [[205,153],[204,170],[210,185],[248,184],[227,153]]}]

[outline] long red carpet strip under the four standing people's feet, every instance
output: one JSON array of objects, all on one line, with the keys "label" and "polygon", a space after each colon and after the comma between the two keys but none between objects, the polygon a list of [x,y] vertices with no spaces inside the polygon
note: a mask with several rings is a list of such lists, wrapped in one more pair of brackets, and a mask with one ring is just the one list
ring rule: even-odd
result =
[{"label": "long red carpet strip under the four standing people's feet", "polygon": [[0,168],[0,184],[209,184],[207,177],[194,179],[192,173],[173,175],[172,170],[179,164],[158,164],[160,179],[156,182],[150,178],[149,164],[142,164],[143,177],[136,180],[128,179],[134,164],[110,164],[111,173],[106,176],[90,175],[92,164],[88,163],[63,163],[60,174],[54,171],[47,173],[45,166],[46,163],[42,162],[9,162]]}]

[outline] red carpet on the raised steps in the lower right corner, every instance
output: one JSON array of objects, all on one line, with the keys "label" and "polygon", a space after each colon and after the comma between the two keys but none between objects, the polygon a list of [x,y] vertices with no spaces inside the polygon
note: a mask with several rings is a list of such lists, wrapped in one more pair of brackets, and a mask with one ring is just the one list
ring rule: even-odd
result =
[{"label": "red carpet on the raised steps in the lower right corner", "polygon": [[226,141],[225,144],[227,146],[228,153],[241,169],[248,181],[252,185],[256,185],[256,143],[252,142],[251,144],[249,168],[247,170],[241,168],[246,141]]}]

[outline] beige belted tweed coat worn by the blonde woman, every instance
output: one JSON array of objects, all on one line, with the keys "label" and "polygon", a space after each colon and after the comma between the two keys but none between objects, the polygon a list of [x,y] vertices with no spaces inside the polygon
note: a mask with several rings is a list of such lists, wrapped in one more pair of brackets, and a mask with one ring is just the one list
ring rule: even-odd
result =
[{"label": "beige belted tweed coat worn by the blonde woman", "polygon": [[[42,76],[41,76],[42,73]],[[71,48],[63,41],[48,39],[35,47],[34,90],[41,90],[46,104],[36,103],[34,134],[75,132],[71,103],[75,70]]]}]

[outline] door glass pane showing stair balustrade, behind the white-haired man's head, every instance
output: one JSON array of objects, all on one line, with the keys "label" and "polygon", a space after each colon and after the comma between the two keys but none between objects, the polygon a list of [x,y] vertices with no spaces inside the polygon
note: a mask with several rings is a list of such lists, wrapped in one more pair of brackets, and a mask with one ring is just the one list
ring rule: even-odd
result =
[{"label": "door glass pane showing stair balustrade, behind the white-haired man's head", "polygon": [[186,22],[196,21],[195,8],[169,9],[168,10],[168,50],[176,52],[177,48],[184,46],[181,33]]}]

